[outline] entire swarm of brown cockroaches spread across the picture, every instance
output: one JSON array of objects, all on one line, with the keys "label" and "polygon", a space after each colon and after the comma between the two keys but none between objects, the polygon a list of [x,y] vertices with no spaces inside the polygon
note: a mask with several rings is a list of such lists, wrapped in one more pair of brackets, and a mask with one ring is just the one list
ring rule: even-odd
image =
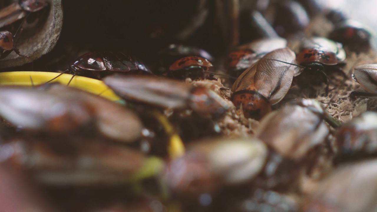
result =
[{"label": "entire swarm of brown cockroaches spread across the picture", "polygon": [[[0,14],[0,26],[47,2],[10,5],[22,15]],[[273,110],[301,74],[322,77],[326,96],[332,72],[350,78],[341,69],[342,45],[371,50],[371,32],[359,23],[339,11],[313,14],[307,3],[316,1],[300,2],[271,3],[267,20],[251,13],[260,31],[277,33],[218,60],[175,42],[149,66],[124,52],[89,52],[55,77],[103,80],[125,105],[49,83],[55,78],[32,87],[0,86],[0,211],[377,210],[377,114],[342,124],[322,103],[305,98]],[[334,31],[328,38],[300,37],[315,15],[333,22]],[[299,40],[296,53],[290,39]],[[11,32],[0,31],[0,58],[11,51],[24,56],[15,45]],[[353,96],[377,95],[376,64],[355,66],[352,78],[368,91]],[[231,96],[221,95],[225,86],[215,91],[193,81],[233,83]],[[219,123],[230,114],[259,125],[249,137],[225,137]],[[185,152],[172,142],[175,133]],[[28,184],[31,179],[43,192]]]}]

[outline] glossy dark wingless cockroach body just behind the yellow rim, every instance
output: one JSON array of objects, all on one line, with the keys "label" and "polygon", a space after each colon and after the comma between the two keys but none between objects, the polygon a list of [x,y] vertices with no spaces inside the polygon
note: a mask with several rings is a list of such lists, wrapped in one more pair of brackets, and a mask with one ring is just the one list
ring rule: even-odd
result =
[{"label": "glossy dark wingless cockroach body just behind the yellow rim", "polygon": [[130,73],[152,72],[141,61],[122,52],[89,52],[77,59],[71,66],[76,71],[115,71]]}]

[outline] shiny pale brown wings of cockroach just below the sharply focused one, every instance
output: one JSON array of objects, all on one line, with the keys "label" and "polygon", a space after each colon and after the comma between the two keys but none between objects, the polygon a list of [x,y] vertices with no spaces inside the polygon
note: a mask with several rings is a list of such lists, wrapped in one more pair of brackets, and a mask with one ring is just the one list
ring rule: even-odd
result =
[{"label": "shiny pale brown wings of cockroach just below the sharply focused one", "polygon": [[328,133],[319,115],[308,108],[287,105],[263,117],[255,135],[283,157],[300,161],[321,144]]}]

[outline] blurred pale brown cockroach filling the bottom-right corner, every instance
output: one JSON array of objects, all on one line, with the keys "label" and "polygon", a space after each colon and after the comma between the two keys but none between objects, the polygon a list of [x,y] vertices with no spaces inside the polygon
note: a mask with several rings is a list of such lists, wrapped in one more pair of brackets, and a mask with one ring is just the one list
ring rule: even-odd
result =
[{"label": "blurred pale brown cockroach filling the bottom-right corner", "polygon": [[376,211],[377,160],[337,167],[307,190],[303,212]]}]

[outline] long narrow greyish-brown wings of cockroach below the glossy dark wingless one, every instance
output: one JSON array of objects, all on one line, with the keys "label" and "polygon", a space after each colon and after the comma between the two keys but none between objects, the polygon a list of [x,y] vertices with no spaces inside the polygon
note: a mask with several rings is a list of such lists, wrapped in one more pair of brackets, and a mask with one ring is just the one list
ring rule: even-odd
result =
[{"label": "long narrow greyish-brown wings of cockroach below the glossy dark wingless one", "polygon": [[160,108],[184,109],[192,87],[181,81],[151,76],[111,75],[105,84],[126,101],[137,101]]}]

